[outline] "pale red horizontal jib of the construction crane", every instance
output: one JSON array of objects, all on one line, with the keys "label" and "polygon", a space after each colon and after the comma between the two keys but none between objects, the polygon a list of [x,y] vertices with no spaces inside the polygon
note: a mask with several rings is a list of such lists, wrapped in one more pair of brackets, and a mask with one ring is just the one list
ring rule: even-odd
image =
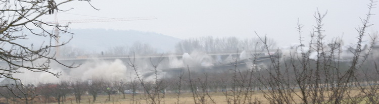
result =
[{"label": "pale red horizontal jib of the construction crane", "polygon": [[156,17],[133,17],[133,18],[110,18],[110,19],[86,19],[86,20],[63,20],[58,22],[46,22],[47,24],[61,23],[89,23],[89,22],[115,22],[115,21],[137,21],[137,20],[153,20]]}]

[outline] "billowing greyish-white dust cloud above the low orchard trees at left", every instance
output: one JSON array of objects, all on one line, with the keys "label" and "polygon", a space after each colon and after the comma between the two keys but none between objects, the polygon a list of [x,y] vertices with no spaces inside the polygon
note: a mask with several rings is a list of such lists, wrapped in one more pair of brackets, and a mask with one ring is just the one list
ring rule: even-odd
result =
[{"label": "billowing greyish-white dust cloud above the low orchard trees at left", "polygon": [[57,78],[47,72],[32,72],[20,69],[23,73],[14,74],[13,77],[21,79],[23,83],[57,83],[60,81],[90,80],[92,78],[103,78],[105,80],[125,80],[129,76],[125,63],[119,59],[114,61],[91,60],[83,63],[78,68],[62,69],[59,66],[52,66],[50,72],[58,73]]}]

